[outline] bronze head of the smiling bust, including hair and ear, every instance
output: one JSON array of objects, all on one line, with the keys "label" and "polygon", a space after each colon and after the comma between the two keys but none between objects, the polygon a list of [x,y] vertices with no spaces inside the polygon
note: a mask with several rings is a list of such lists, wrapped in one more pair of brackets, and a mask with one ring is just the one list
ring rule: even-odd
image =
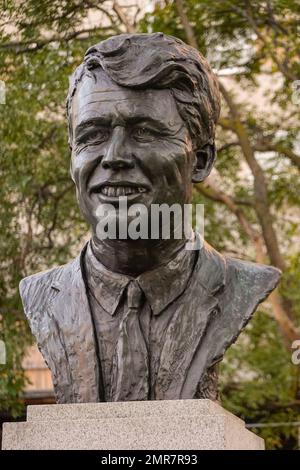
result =
[{"label": "bronze head of the smiling bust, including hair and ear", "polygon": [[188,203],[215,159],[216,79],[196,49],[122,34],[88,49],[68,99],[71,174],[93,232],[97,208]]}]

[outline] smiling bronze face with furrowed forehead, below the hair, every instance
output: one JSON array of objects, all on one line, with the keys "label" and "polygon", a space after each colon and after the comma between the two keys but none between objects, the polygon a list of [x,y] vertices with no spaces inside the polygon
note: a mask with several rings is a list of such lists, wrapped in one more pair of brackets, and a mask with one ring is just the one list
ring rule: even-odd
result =
[{"label": "smiling bronze face with furrowed forehead, below the hair", "polygon": [[95,234],[101,204],[188,203],[192,141],[169,90],[120,87],[99,71],[85,77],[72,104],[71,173]]}]

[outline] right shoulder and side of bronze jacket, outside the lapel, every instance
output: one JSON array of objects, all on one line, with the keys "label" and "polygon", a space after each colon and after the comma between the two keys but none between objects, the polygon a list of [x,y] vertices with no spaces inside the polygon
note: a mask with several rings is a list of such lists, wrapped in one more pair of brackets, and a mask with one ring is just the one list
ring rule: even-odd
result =
[{"label": "right shoulder and side of bronze jacket, outside the lapel", "polygon": [[207,369],[218,363],[234,343],[258,305],[280,280],[280,271],[233,258],[226,260],[226,288],[219,296],[220,311],[195,353],[182,398],[190,398]]}]

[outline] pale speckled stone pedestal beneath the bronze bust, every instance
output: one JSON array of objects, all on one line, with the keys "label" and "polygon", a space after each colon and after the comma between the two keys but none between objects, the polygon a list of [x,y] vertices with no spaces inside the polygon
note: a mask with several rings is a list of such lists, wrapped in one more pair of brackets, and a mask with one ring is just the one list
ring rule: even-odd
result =
[{"label": "pale speckled stone pedestal beneath the bronze bust", "polygon": [[210,400],[38,405],[5,423],[2,449],[264,449],[244,422]]}]

